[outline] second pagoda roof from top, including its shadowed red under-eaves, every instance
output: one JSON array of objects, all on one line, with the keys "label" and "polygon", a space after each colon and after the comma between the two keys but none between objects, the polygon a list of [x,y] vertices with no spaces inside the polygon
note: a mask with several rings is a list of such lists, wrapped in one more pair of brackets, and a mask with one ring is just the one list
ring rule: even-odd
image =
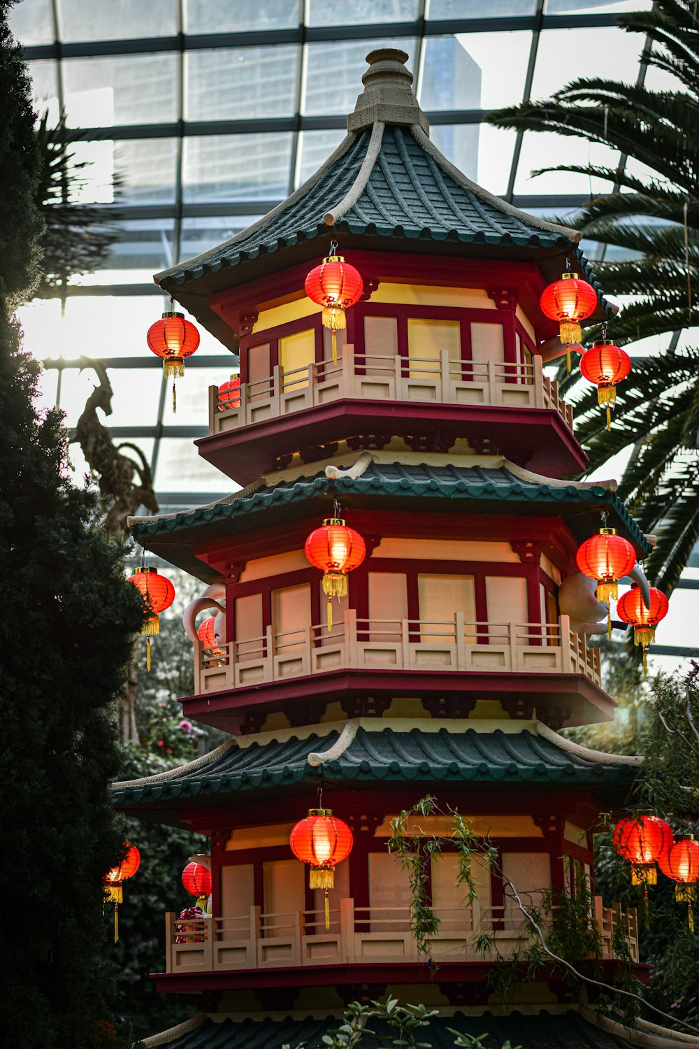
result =
[{"label": "second pagoda roof from top, including its shadowed red under-eaves", "polygon": [[[341,473],[328,477],[321,472],[269,485],[261,477],[218,502],[176,514],[131,517],[129,523],[134,539],[205,581],[213,581],[218,575],[194,555],[193,543],[204,531],[207,537],[244,533],[259,527],[248,515],[261,512],[267,515],[265,527],[279,524],[307,515],[308,500],[316,499],[325,506],[335,495],[347,508],[354,509],[375,506],[375,497],[384,496],[390,500],[389,509],[467,512],[468,504],[477,502],[474,509],[483,514],[502,513],[506,504],[508,513],[543,513],[564,518],[570,515],[567,523],[580,541],[594,528],[591,518],[596,521],[599,510],[606,509],[610,527],[617,528],[639,553],[649,554],[648,540],[611,487],[609,483],[555,480],[506,461],[503,466],[483,467],[428,466],[372,458],[359,476]],[[427,500],[429,506],[423,505]],[[383,509],[387,509],[386,504]],[[589,514],[581,510],[589,510]]]}]

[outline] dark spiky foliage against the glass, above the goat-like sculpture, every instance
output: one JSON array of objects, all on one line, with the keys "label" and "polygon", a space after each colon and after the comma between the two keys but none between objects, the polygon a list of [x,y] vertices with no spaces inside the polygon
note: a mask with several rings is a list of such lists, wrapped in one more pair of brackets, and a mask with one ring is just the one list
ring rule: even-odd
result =
[{"label": "dark spiky foliage against the glass, above the goat-like sculpture", "polygon": [[[94,273],[106,264],[109,249],[118,239],[111,224],[118,216],[113,208],[77,204],[90,164],[72,157],[65,113],[56,127],[48,126],[44,113],[37,138],[43,166],[36,200],[46,223],[41,240],[44,275],[37,294],[46,297],[65,287],[69,277]],[[75,141],[74,132],[70,141]]]}]

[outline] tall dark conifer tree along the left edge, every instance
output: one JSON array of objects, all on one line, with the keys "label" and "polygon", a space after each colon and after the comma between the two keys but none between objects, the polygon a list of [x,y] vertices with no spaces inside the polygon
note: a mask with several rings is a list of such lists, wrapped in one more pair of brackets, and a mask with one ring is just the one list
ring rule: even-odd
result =
[{"label": "tall dark conifer tree along the left edge", "polygon": [[40,369],[13,317],[39,279],[43,223],[10,6],[0,0],[0,1029],[14,1049],[87,1049],[118,1041],[102,879],[123,854],[113,707],[143,608],[91,494],[69,480],[61,413],[35,410]]}]

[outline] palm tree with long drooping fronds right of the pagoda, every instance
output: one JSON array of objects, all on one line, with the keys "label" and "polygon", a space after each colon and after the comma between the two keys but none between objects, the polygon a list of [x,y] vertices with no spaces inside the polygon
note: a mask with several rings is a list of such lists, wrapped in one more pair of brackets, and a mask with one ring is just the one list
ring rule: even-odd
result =
[{"label": "palm tree with long drooping fronds right of the pagoda", "polygon": [[[609,335],[625,344],[667,336],[655,357],[635,357],[619,387],[611,433],[586,408],[589,388],[572,390],[582,406],[578,435],[590,470],[630,450],[619,494],[641,528],[658,535],[647,568],[670,593],[699,539],[699,349],[678,349],[681,328],[699,323],[699,21],[696,0],[655,0],[651,10],[619,15],[627,33],[645,38],[643,61],[672,74],[671,90],[595,78],[576,80],[543,102],[525,102],[489,116],[498,127],[556,131],[619,150],[616,168],[562,164],[547,171],[597,176],[613,190],[591,199],[567,226],[622,249],[626,258],[598,263],[604,286],[633,296]],[[635,174],[632,158],[649,171]],[[541,172],[537,172],[538,174]],[[599,331],[590,329],[591,338]]]}]

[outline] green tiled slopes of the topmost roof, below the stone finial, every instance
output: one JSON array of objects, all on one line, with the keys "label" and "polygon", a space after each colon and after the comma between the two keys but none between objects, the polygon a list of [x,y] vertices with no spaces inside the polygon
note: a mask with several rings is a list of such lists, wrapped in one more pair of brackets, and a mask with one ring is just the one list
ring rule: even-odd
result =
[{"label": "green tiled slopes of the topmost roof, below the stone finial", "polygon": [[[305,193],[294,194],[261,222],[220,247],[157,274],[174,290],[222,267],[268,255],[330,230],[323,216],[351,189],[367,154],[370,131],[348,136],[348,148]],[[358,199],[332,227],[333,235],[395,237],[403,241],[451,241],[555,249],[574,254],[587,279],[602,292],[582,252],[563,228],[546,228],[533,216],[501,210],[488,194],[457,183],[416,142],[409,127],[388,126],[371,174]]]}]

